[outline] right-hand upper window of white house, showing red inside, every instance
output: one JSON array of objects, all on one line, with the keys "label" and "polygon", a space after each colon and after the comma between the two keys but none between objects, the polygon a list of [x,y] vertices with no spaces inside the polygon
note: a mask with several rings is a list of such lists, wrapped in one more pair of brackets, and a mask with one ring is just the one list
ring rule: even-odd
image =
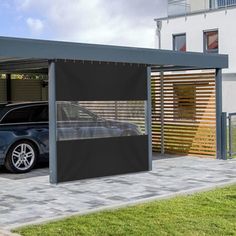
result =
[{"label": "right-hand upper window of white house, showing red inside", "polygon": [[204,52],[218,53],[218,30],[204,32]]}]

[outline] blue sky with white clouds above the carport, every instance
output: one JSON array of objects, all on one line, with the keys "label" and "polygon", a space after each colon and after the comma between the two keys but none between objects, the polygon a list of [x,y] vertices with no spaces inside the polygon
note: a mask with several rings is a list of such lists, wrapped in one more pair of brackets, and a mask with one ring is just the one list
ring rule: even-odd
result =
[{"label": "blue sky with white clouds above the carport", "polygon": [[0,36],[155,47],[167,0],[0,0]]}]

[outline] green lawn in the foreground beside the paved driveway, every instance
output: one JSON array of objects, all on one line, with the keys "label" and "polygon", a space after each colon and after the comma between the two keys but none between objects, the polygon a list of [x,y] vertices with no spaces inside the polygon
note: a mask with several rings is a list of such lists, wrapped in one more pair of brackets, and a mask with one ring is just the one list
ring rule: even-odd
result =
[{"label": "green lawn in the foreground beside the paved driveway", "polygon": [[[79,199],[78,199],[79,201]],[[236,235],[236,185],[25,227],[22,235]]]}]

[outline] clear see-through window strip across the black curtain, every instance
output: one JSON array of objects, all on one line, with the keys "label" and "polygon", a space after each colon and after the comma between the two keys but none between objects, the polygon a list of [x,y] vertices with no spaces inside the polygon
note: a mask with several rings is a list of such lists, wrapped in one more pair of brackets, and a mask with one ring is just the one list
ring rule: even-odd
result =
[{"label": "clear see-through window strip across the black curtain", "polygon": [[57,140],[139,136],[145,101],[57,102]]}]

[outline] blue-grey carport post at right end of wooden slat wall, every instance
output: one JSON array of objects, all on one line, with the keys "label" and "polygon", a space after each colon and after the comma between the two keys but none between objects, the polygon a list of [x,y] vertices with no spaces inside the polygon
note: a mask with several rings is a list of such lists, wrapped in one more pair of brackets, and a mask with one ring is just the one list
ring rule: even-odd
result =
[{"label": "blue-grey carport post at right end of wooden slat wall", "polygon": [[216,69],[216,158],[222,159],[222,70]]}]

